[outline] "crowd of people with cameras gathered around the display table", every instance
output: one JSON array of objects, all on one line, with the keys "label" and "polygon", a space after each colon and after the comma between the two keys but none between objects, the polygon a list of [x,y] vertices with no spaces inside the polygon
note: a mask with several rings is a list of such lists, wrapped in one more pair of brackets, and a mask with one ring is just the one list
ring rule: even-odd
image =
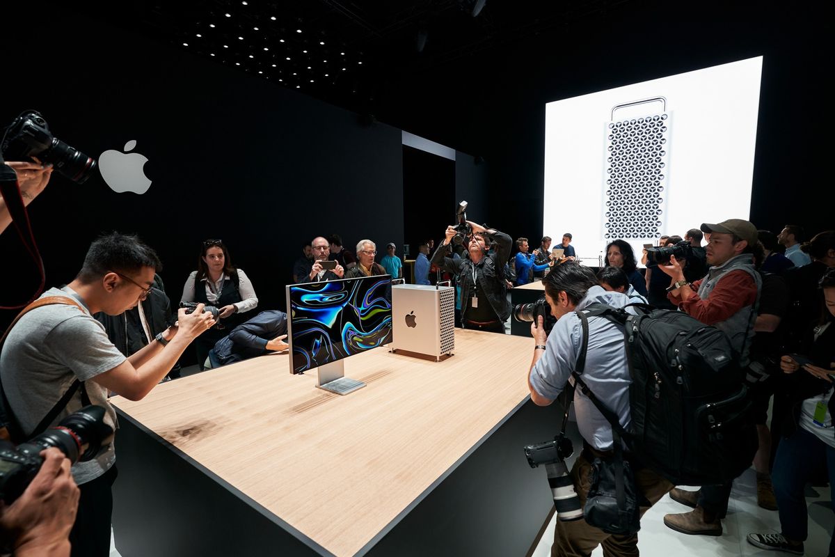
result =
[{"label": "crowd of people with cameras gathered around the display table", "polygon": [[[22,176],[22,190],[36,194],[50,171],[43,165],[13,168],[30,175]],[[27,183],[31,187],[23,188]],[[534,403],[549,404],[565,388],[581,352],[575,311],[591,303],[635,311],[635,302],[648,301],[725,332],[746,370],[756,409],[758,503],[777,510],[782,527],[779,534],[751,532],[747,539],[762,549],[802,554],[805,483],[825,479],[835,492],[835,230],[805,241],[799,225],[786,225],[774,234],[747,220],[706,223],[683,236],[660,239],[659,246],[680,246],[679,256],[655,258],[650,256],[654,246],[645,249],[641,274],[630,243],[621,239],[606,246],[605,264],[595,273],[576,261],[571,234],[563,235],[557,248],[561,251],[551,250],[551,238],[544,236],[529,253],[528,239],[519,237],[512,253],[510,235],[474,222],[468,225],[472,232],[460,244],[453,241],[458,228],[448,226],[437,248],[433,241],[419,247],[415,281],[428,284],[433,267],[447,273],[459,291],[461,326],[497,333],[505,332],[510,316],[509,289],[543,281],[545,300],[557,321],[550,333],[542,322],[531,327],[534,357],[527,382]],[[386,252],[378,254],[376,243],[368,239],[351,251],[339,235],[317,236],[302,245],[292,281],[402,277],[397,246],[387,244]],[[138,237],[103,235],[89,247],[73,281],[44,292],[50,303],[29,311],[10,329],[0,352],[0,378],[7,410],[23,431],[39,433],[33,430],[41,418],[55,409],[56,400],[62,403],[63,393],[76,381],[83,388],[78,396],[63,400],[59,418],[88,401],[105,408],[105,422],[115,426],[109,396],[143,398],[159,382],[177,376],[177,362],[192,345],[201,369],[287,349],[286,314],[255,313],[255,287],[245,271],[232,265],[223,241],[202,243],[196,269],[180,296],[180,306],[191,307],[175,311],[159,271],[159,257]],[[210,307],[215,311],[204,311]],[[630,373],[623,332],[601,317],[588,321],[585,380],[627,428]],[[591,463],[610,457],[614,437],[610,423],[582,392],[574,393],[574,405],[584,448],[571,474],[584,500]],[[108,554],[111,486],[117,476],[113,444],[71,469],[55,450],[43,457],[27,491],[2,509],[3,543],[21,555],[37,551],[38,544],[50,545],[56,554],[67,554],[70,547],[75,555]],[[635,466],[635,486],[646,504],[642,512],[670,493],[692,510],[665,515],[667,526],[682,534],[722,534],[730,482],[691,492],[639,461]],[[55,502],[66,507],[60,517],[53,512]],[[583,519],[559,521],[554,535],[554,554],[590,554],[599,544],[606,554],[636,552],[635,534],[606,534]]]}]

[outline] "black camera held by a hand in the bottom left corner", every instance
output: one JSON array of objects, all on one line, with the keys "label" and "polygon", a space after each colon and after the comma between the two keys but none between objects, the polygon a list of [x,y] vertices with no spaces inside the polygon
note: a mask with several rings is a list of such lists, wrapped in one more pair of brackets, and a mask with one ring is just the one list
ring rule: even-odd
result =
[{"label": "black camera held by a hand in the bottom left corner", "polygon": [[57,426],[13,447],[0,446],[0,499],[12,504],[43,464],[44,448],[57,447],[74,464],[92,460],[113,441],[113,428],[104,423],[104,408],[85,406]]}]

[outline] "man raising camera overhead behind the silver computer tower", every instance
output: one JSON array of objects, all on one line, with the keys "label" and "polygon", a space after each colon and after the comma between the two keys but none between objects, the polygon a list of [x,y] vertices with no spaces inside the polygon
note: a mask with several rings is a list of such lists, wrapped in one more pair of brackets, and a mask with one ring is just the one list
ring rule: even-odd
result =
[{"label": "man raising camera overhead behind the silver computer tower", "polygon": [[[465,329],[504,334],[504,322],[510,316],[504,262],[508,261],[513,240],[504,232],[488,230],[469,220],[466,222],[472,230],[467,238],[468,257],[453,259],[448,255],[458,230],[455,226],[447,226],[443,243],[432,256],[433,265],[458,277],[461,324]],[[489,241],[496,243],[496,250],[488,255]]]}]

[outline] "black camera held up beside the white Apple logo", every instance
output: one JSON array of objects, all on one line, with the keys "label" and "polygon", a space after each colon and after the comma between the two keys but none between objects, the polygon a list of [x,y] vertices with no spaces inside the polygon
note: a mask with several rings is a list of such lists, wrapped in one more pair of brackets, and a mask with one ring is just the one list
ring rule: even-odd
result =
[{"label": "black camera held up beside the white Apple logo", "polygon": [[38,157],[78,184],[86,182],[98,165],[95,159],[54,137],[46,119],[34,110],[23,112],[9,124],[0,151],[6,160],[32,161]]}]

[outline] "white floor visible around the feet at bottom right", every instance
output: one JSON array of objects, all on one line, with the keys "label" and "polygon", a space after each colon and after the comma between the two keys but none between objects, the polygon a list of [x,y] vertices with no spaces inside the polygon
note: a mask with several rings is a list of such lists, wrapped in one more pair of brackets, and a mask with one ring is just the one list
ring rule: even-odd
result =
[{"label": "white floor visible around the feet at bottom right", "polygon": [[[690,489],[690,488],[686,488]],[[806,540],[806,554],[809,557],[823,557],[829,550],[829,539],[835,526],[835,514],[832,513],[830,490],[828,487],[807,488],[809,504],[809,537]],[[693,536],[680,534],[664,525],[665,514],[684,513],[690,509],[678,504],[669,495],[665,495],[658,504],[650,509],[641,519],[638,533],[638,549],[642,557],[673,557],[692,555],[694,557],[725,557],[730,555],[787,555],[776,551],[766,551],[749,544],[746,535],[750,532],[772,530],[780,531],[777,511],[761,509],[757,506],[757,475],[751,468],[736,479],[728,506],[727,518],[722,520],[724,532],[721,536]],[[551,519],[548,529],[539,541],[533,557],[546,557],[551,554],[554,541],[554,522]],[[592,554],[601,557],[603,550],[598,548]]]}]

